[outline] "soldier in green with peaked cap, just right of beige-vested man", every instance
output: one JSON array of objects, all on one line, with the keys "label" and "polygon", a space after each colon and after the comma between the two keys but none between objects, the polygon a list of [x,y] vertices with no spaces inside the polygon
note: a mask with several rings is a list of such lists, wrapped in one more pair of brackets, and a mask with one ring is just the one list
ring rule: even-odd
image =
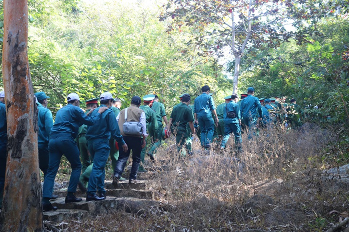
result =
[{"label": "soldier in green with peaked cap, just right of beige-vested man", "polygon": [[[139,107],[139,109],[143,110],[145,113],[146,129],[148,132],[149,131],[151,131],[151,132],[157,131],[157,128],[158,128],[155,111],[150,108],[152,106],[154,98],[155,98],[155,95],[153,95],[153,94],[145,95],[143,97],[143,105]],[[158,141],[158,139],[156,138],[153,141],[156,143]],[[142,164],[139,166],[138,172],[145,172],[144,166],[143,166],[144,160],[145,160],[145,152],[146,152],[146,146],[144,146],[142,148],[141,153],[140,153],[140,158],[141,158]],[[151,157],[150,157],[150,159],[151,159]]]}]

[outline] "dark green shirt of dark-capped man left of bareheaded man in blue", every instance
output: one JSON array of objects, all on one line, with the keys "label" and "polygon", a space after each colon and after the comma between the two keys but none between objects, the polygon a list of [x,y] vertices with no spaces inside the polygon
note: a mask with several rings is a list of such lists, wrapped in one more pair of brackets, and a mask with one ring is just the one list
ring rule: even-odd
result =
[{"label": "dark green shirt of dark-capped man left of bareheaded man in blue", "polygon": [[173,108],[171,119],[172,127],[176,127],[178,131],[185,131],[186,123],[194,121],[192,110],[185,103]]}]

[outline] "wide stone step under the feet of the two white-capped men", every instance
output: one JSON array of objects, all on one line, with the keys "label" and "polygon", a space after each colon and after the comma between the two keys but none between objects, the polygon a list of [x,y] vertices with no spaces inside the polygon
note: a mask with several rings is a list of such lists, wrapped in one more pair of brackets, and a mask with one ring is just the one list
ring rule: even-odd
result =
[{"label": "wide stone step under the feet of the two white-capped men", "polygon": [[[137,198],[115,198],[107,196],[103,201],[90,201],[77,203],[64,203],[64,198],[58,198],[51,201],[53,206],[56,206],[59,211],[75,211],[88,212],[89,215],[105,214],[115,210],[124,210],[126,213],[143,214],[151,207],[158,207],[159,203],[153,200],[144,200]],[[58,212],[55,211],[55,212]],[[54,212],[54,211],[53,211]],[[46,213],[46,212],[45,212]]]}]

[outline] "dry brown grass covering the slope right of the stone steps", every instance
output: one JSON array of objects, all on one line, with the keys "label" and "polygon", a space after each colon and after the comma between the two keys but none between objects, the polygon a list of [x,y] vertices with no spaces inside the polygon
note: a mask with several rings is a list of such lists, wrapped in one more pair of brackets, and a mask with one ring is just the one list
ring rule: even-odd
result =
[{"label": "dry brown grass covering the slope right of the stone steps", "polygon": [[[219,144],[202,151],[199,142],[194,141],[191,157],[178,156],[173,141],[168,140],[158,149],[157,159],[165,161],[170,171],[159,173],[149,184],[149,188],[156,190],[155,200],[165,207],[152,209],[142,217],[115,212],[72,221],[60,225],[59,229],[84,232],[225,232],[249,228],[322,231],[338,219],[328,214],[330,211],[349,210],[348,192],[343,192],[335,180],[326,179],[322,173],[333,165],[322,161],[332,138],[330,131],[317,126],[300,131],[273,128],[260,131],[259,136],[250,141],[243,134],[243,152],[240,153],[235,151],[231,139],[223,152],[219,152]],[[246,201],[256,194],[273,199],[274,205],[269,211],[290,209],[304,217],[297,223],[270,225],[266,223],[267,211],[244,208]]]}]

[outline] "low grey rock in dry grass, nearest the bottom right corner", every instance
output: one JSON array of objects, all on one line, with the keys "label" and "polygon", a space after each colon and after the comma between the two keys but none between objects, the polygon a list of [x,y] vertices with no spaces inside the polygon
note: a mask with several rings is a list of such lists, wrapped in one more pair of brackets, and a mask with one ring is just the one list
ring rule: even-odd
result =
[{"label": "low grey rock in dry grass, nearest the bottom right corner", "polygon": [[305,215],[302,212],[293,209],[276,208],[267,213],[264,222],[267,226],[278,226],[286,224],[301,224],[305,221]]}]

